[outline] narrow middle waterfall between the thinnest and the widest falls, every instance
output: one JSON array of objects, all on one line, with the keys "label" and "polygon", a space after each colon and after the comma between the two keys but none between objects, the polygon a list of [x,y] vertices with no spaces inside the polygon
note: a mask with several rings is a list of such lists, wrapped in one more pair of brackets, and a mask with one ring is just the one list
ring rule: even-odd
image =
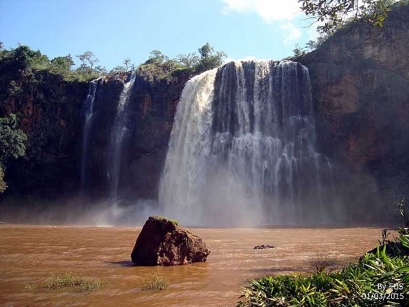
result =
[{"label": "narrow middle waterfall between the thinnest and the widest falls", "polygon": [[128,121],[126,106],[129,102],[131,89],[135,81],[136,74],[132,73],[124,83],[124,89],[119,97],[117,105],[117,114],[113,122],[113,127],[110,135],[109,143],[109,155],[110,161],[108,161],[107,177],[110,180],[110,196],[112,199],[116,199],[118,196],[118,185],[121,173],[121,157],[123,153],[122,144],[128,128],[126,123]]}]

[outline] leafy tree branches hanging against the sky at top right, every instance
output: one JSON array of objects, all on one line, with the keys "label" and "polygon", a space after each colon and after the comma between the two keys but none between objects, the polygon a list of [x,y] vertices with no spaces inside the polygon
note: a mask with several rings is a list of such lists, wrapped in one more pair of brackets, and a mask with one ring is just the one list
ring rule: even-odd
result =
[{"label": "leafy tree branches hanging against the sky at top right", "polygon": [[301,9],[315,22],[324,23],[317,29],[333,33],[348,23],[362,20],[383,27],[395,0],[299,0]]}]

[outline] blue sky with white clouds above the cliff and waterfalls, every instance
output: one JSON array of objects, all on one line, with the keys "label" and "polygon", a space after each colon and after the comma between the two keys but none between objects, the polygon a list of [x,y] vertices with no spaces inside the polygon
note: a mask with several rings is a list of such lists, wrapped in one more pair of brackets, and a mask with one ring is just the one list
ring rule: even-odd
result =
[{"label": "blue sky with white clouds above the cliff and waterfalls", "polygon": [[20,42],[50,59],[90,50],[108,70],[126,57],[140,64],[153,49],[172,58],[207,41],[232,59],[281,59],[316,36],[297,0],[0,0],[0,11],[6,48]]}]

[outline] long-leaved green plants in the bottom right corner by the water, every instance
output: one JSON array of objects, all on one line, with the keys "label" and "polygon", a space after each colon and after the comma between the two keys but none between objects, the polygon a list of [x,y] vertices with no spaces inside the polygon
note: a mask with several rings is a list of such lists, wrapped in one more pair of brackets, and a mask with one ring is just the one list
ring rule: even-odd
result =
[{"label": "long-leaved green plants in the bottom right corner by the water", "polygon": [[[404,239],[409,244],[409,238]],[[409,302],[408,272],[409,258],[389,256],[384,246],[375,254],[363,255],[360,261],[350,263],[341,271],[317,270],[309,276],[294,274],[252,279],[249,287],[243,288],[237,306],[403,306]],[[379,290],[378,284],[386,288]],[[390,289],[391,284],[399,289]],[[395,298],[373,299],[373,296],[388,292],[394,293]]]}]

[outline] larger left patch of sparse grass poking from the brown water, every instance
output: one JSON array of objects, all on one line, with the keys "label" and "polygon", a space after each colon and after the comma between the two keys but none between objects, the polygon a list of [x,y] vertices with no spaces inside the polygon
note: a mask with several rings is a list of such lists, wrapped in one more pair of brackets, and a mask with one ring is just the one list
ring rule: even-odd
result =
[{"label": "larger left patch of sparse grass poking from the brown water", "polygon": [[104,282],[101,279],[86,280],[83,277],[66,272],[65,274],[51,274],[45,286],[50,290],[71,287],[83,292],[91,292],[105,286],[105,284],[109,284],[109,281]]}]

